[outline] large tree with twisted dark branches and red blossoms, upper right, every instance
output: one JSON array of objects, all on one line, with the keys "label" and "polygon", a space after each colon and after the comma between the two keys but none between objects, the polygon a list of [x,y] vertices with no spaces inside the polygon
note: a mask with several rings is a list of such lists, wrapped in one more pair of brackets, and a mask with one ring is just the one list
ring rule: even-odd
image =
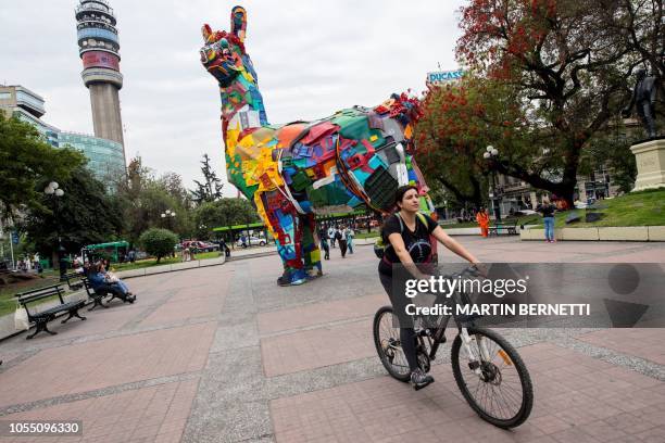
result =
[{"label": "large tree with twisted dark branches and red blossoms, upper right", "polygon": [[[627,42],[601,25],[601,3],[472,0],[462,9],[459,58],[514,88],[527,107],[531,137],[541,140],[537,156],[501,156],[491,167],[569,204],[582,148],[623,107],[639,63]],[[512,150],[494,144],[502,153]]]}]

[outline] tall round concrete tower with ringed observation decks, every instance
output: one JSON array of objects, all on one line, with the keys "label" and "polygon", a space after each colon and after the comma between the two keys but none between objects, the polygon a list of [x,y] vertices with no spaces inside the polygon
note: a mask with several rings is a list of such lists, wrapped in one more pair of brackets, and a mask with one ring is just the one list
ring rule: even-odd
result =
[{"label": "tall round concrete tower with ringed observation decks", "polygon": [[75,16],[78,53],[84,64],[80,76],[90,90],[95,136],[124,147],[117,92],[123,87],[123,75],[113,9],[106,0],[79,0]]}]

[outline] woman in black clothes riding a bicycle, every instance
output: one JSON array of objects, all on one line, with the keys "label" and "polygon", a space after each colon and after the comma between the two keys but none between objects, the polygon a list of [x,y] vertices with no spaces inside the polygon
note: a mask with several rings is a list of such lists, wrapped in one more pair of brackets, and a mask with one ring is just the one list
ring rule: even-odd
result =
[{"label": "woman in black clothes riding a bicycle", "polygon": [[[418,213],[421,202],[415,186],[398,188],[394,201],[398,211],[386,218],[381,228],[382,241],[387,248],[379,262],[378,271],[381,284],[400,319],[400,342],[409,362],[411,383],[415,389],[421,389],[431,383],[434,378],[418,367],[413,320],[405,313],[406,305],[412,303],[405,295],[405,280],[428,278],[424,271],[427,273],[427,264],[432,260],[434,248],[430,240],[432,237],[469,263],[479,262],[464,246],[450,238],[434,219]],[[394,265],[400,266],[394,267]],[[400,269],[406,273],[401,273]]]}]

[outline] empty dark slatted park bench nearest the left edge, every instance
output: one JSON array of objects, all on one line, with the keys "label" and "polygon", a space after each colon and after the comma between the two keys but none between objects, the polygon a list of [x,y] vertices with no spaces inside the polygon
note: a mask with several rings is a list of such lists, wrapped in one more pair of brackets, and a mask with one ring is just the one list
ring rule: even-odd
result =
[{"label": "empty dark slatted park bench nearest the left edge", "polygon": [[[78,314],[78,309],[80,309],[86,302],[84,300],[76,300],[73,302],[66,302],[62,298],[63,291],[60,288],[60,284],[53,284],[50,287],[33,289],[32,291],[20,292],[14,295],[18,303],[25,307],[25,311],[28,315],[28,321],[34,322],[36,326],[36,330],[33,334],[26,337],[27,340],[37,336],[39,332],[45,331],[50,333],[51,336],[55,336],[58,332],[50,331],[47,327],[47,324],[55,318],[55,316],[60,313],[68,313],[68,317],[62,320],[62,324],[67,322],[72,317],[80,318],[85,320],[86,317],[81,317]],[[58,300],[60,304],[49,307],[43,311],[36,311],[35,308],[29,309],[28,305],[35,302],[43,301],[46,299],[50,299],[54,295],[58,295]]]}]

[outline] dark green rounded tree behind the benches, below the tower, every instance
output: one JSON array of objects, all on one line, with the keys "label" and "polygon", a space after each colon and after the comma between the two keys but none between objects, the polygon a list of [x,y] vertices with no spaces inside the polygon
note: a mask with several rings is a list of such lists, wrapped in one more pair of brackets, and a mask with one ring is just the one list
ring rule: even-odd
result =
[{"label": "dark green rounded tree behind the benches, below the tower", "polygon": [[[39,182],[43,189],[48,180]],[[83,246],[116,240],[124,230],[124,218],[104,183],[85,166],[60,180],[64,195],[38,195],[39,206],[30,210],[21,229],[42,254],[51,255],[60,243],[68,252]]]}]

